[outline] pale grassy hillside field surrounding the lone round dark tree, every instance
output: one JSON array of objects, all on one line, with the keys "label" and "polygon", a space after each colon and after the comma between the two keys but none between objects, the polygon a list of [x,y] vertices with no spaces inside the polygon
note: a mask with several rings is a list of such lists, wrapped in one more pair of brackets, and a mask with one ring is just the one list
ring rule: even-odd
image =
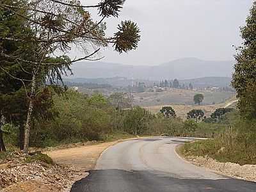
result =
[{"label": "pale grassy hillside field surrounding the lone round dark tree", "polygon": [[196,93],[204,95],[202,105],[211,105],[212,103],[220,104],[234,97],[236,93],[231,92],[212,92],[200,91],[194,92],[191,90],[170,89],[164,92],[144,92],[134,93],[134,104],[142,107],[159,106],[166,104],[184,104],[194,105],[193,97]]}]

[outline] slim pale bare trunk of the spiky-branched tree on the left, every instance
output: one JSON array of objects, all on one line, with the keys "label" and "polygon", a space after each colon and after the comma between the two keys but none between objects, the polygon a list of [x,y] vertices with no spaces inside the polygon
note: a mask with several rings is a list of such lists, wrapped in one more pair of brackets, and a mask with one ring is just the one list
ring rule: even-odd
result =
[{"label": "slim pale bare trunk of the spiky-branched tree on the left", "polygon": [[28,116],[27,116],[27,122],[24,130],[24,153],[25,154],[28,154],[28,148],[29,148],[29,135],[30,135],[30,129],[31,129],[31,122],[33,118],[35,92],[36,92],[36,73],[33,74],[33,78],[32,78]]}]

